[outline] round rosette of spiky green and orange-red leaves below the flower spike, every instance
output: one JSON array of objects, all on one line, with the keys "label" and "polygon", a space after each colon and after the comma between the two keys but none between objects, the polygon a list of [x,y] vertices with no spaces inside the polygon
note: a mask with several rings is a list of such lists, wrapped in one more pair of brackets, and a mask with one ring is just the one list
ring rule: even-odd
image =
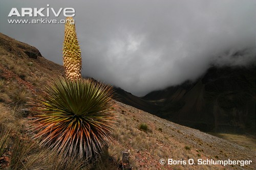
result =
[{"label": "round rosette of spiky green and orange-red leaves below the flower spike", "polygon": [[88,159],[101,153],[110,138],[113,88],[82,79],[57,79],[30,103],[32,131],[42,147]]}]

